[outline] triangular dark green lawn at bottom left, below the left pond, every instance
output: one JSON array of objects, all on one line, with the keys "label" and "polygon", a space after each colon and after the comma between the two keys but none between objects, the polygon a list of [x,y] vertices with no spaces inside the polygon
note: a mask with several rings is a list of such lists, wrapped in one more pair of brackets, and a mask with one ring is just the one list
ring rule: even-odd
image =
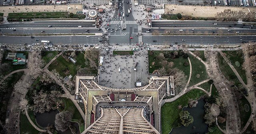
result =
[{"label": "triangular dark green lawn at bottom left, below the left pond", "polygon": [[38,134],[39,131],[34,128],[24,114],[20,114],[20,133],[21,134]]}]

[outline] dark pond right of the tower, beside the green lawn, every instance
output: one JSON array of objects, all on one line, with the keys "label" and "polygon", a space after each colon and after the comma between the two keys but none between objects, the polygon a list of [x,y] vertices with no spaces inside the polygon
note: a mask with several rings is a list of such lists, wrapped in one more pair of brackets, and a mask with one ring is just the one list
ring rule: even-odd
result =
[{"label": "dark pond right of the tower, beside the green lawn", "polygon": [[208,125],[204,123],[204,104],[203,100],[198,100],[196,107],[183,108],[184,111],[187,110],[193,116],[194,122],[187,127],[173,128],[170,134],[205,134],[208,131]]}]

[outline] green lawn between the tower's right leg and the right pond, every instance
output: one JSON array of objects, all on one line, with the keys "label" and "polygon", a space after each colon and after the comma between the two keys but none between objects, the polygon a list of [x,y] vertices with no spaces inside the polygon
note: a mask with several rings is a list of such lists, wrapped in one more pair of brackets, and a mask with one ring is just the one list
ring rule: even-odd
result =
[{"label": "green lawn between the tower's right leg and the right pond", "polygon": [[179,119],[179,113],[182,110],[178,109],[179,105],[182,105],[182,107],[187,106],[189,99],[198,99],[204,94],[200,89],[193,89],[176,101],[165,103],[161,108],[162,134],[169,134],[172,127],[175,126],[175,122]]}]

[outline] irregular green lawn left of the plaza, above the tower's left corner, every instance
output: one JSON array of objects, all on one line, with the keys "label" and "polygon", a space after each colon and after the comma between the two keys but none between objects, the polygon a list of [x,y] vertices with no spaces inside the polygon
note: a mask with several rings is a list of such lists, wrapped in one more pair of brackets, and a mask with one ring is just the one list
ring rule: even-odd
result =
[{"label": "irregular green lawn left of the plaza, above the tower's left corner", "polygon": [[74,78],[79,67],[86,67],[84,55],[82,53],[79,53],[74,59],[77,61],[75,64],[69,60],[67,61],[63,56],[59,56],[51,65],[49,65],[49,70],[52,71],[53,69],[56,69],[63,78],[68,75],[72,75],[72,78]]}]

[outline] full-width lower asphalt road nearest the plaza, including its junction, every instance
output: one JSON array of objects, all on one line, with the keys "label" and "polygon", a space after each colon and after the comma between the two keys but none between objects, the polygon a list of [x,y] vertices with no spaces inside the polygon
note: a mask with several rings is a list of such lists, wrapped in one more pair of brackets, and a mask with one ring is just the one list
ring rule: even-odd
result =
[{"label": "full-width lower asphalt road nearest the plaza, including its junction", "polygon": [[[130,39],[134,37],[134,39]],[[215,38],[216,37],[216,38]],[[39,39],[39,41],[36,41]],[[101,44],[98,42],[100,36],[91,36],[87,38],[86,36],[35,36],[34,39],[30,36],[0,36],[2,44],[23,44],[23,43],[41,43],[41,40],[49,40],[54,45],[90,45],[90,44]],[[186,39],[186,41],[182,41]],[[194,35],[144,35],[142,38],[144,43],[149,43],[152,45],[164,45],[170,44],[174,45],[175,42],[178,44],[194,44],[194,45],[216,45],[216,44],[236,44],[242,43],[242,41],[256,41],[255,35],[246,36],[194,36]],[[156,42],[153,42],[156,40]],[[138,43],[138,37],[135,33],[130,33],[125,36],[111,35],[109,38],[110,44],[119,45],[129,45]]]}]

